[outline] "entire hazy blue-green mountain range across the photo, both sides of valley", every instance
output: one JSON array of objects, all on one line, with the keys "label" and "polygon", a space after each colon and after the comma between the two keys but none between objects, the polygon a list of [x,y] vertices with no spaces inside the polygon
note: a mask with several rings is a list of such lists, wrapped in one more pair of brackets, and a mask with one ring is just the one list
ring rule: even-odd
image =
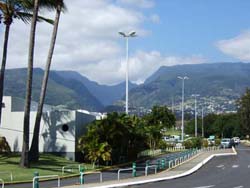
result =
[{"label": "entire hazy blue-green mountain range across the photo, both sides of valley", "polygon": [[[130,106],[150,108],[156,104],[171,105],[172,99],[180,102],[181,80],[185,81],[185,98],[200,94],[203,98],[235,100],[250,87],[250,64],[211,63],[161,67],[144,84],[130,83]],[[38,101],[43,70],[34,69],[32,99]],[[4,95],[24,98],[26,69],[6,71]],[[64,105],[70,109],[101,111],[105,106],[122,100],[125,83],[114,86],[101,85],[74,71],[51,71],[46,96],[50,105]]]}]

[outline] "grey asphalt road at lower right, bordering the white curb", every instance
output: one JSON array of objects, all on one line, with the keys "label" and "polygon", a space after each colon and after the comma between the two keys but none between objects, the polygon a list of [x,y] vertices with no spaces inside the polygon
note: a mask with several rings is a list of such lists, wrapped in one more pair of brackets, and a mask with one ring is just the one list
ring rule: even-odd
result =
[{"label": "grey asphalt road at lower right, bordering the white curb", "polygon": [[130,186],[131,188],[249,188],[250,148],[239,145],[237,156],[216,157],[190,176]]}]

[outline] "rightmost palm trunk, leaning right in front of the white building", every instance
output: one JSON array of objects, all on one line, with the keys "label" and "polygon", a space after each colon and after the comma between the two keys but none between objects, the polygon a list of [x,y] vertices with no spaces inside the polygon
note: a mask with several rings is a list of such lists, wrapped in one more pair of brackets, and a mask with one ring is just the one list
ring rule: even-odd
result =
[{"label": "rightmost palm trunk, leaning right in front of the white building", "polygon": [[41,118],[42,118],[42,113],[43,113],[44,99],[45,99],[46,90],[47,90],[50,65],[51,65],[52,56],[54,53],[54,48],[55,48],[55,43],[56,43],[56,36],[57,36],[57,30],[58,30],[58,25],[59,25],[59,20],[60,20],[61,9],[62,9],[62,5],[61,5],[61,3],[59,3],[57,6],[57,9],[56,9],[54,29],[53,29],[53,33],[52,33],[46,68],[44,70],[43,83],[42,83],[42,87],[41,87],[40,99],[39,99],[38,108],[37,108],[36,121],[35,121],[34,132],[33,132],[33,139],[32,139],[32,144],[31,144],[31,148],[30,148],[30,153],[32,154],[32,155],[30,155],[30,161],[34,161],[34,162],[37,162],[39,159],[40,123],[41,123]]}]

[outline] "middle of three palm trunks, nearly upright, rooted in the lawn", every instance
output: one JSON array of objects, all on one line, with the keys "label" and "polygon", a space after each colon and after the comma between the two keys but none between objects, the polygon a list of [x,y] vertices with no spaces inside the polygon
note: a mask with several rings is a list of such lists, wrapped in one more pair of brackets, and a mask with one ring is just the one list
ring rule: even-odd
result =
[{"label": "middle of three palm trunks, nearly upright, rooted in the lawn", "polygon": [[26,97],[25,97],[25,109],[24,109],[24,121],[23,121],[23,148],[20,160],[20,166],[27,168],[29,167],[30,104],[31,104],[31,93],[32,93],[33,57],[34,57],[38,7],[39,7],[39,0],[34,0],[33,18],[30,29]]}]

